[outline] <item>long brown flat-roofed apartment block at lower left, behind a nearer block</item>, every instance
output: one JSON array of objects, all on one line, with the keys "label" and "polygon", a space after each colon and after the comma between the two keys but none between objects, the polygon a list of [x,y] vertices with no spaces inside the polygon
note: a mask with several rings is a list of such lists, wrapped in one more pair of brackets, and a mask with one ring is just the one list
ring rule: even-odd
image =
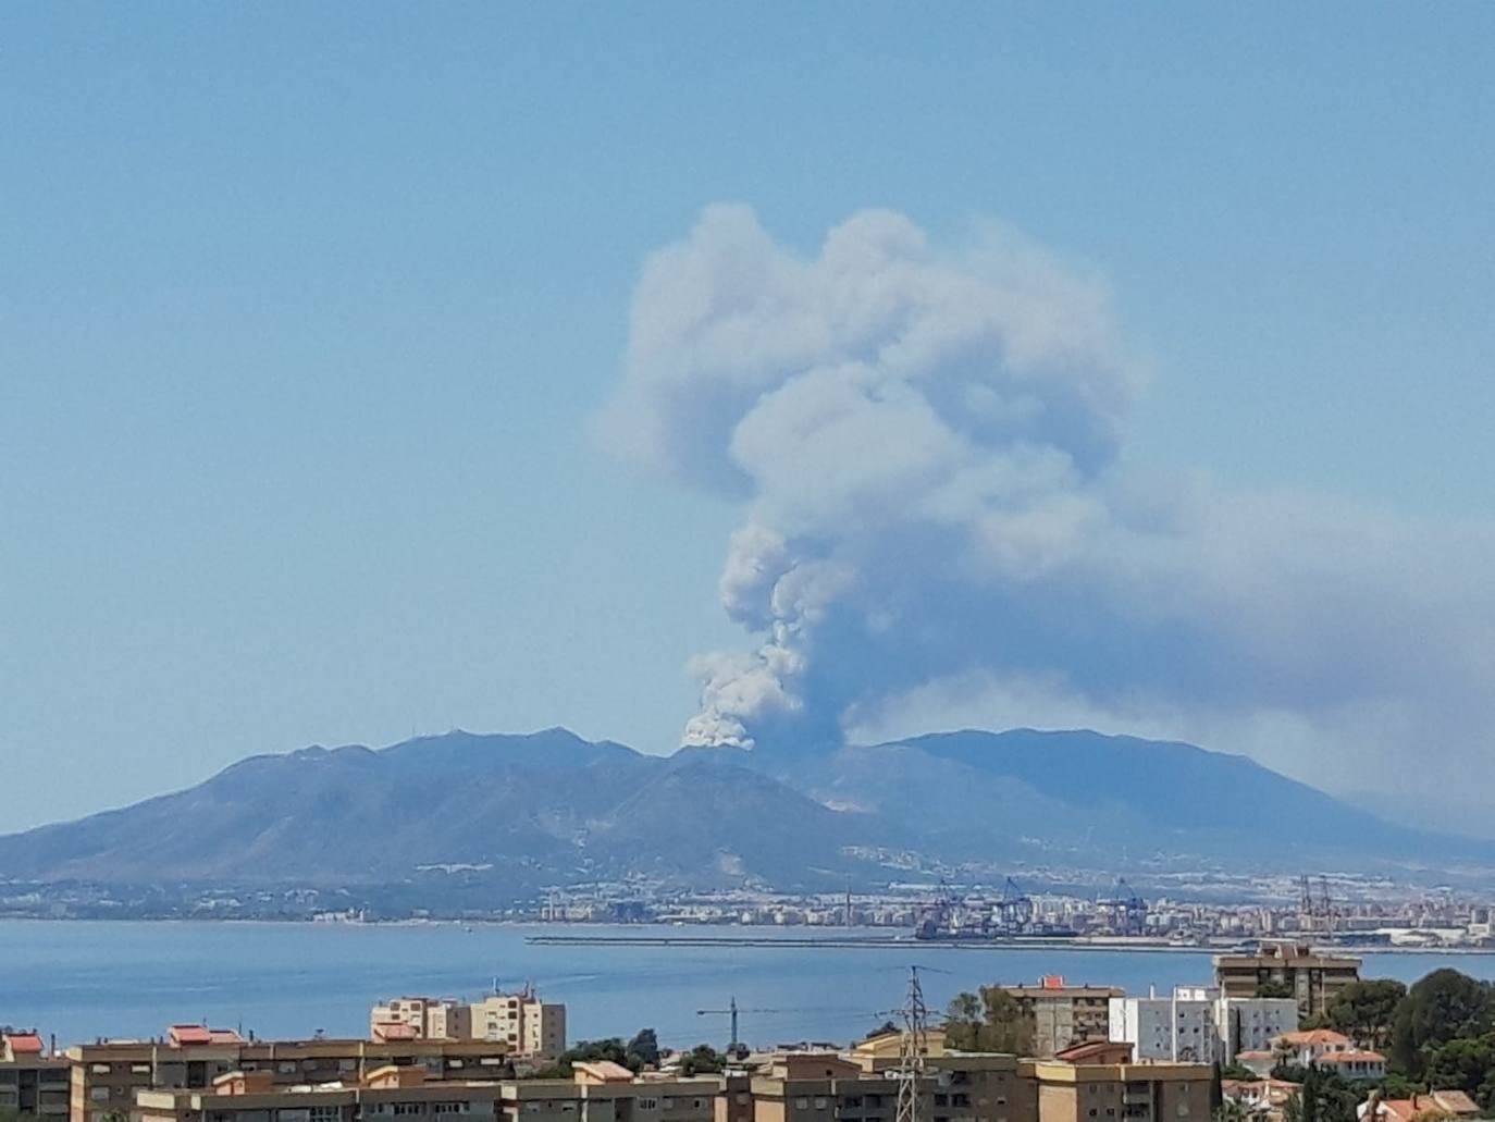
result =
[{"label": "long brown flat-roofed apartment block at lower left, behind a nearer block", "polygon": [[493,1082],[510,1070],[507,1047],[480,1040],[245,1041],[197,1025],[176,1025],[161,1040],[82,1044],[67,1059],[70,1122],[117,1122],[141,1091],[208,1091],[232,1073],[293,1086],[360,1080],[390,1065],[420,1068],[431,1080]]}]

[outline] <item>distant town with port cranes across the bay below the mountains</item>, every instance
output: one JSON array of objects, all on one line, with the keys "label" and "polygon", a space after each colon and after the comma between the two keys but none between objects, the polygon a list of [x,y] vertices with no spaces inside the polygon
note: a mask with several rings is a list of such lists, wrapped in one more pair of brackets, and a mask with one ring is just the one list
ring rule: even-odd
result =
[{"label": "distant town with port cranes across the bay below the mountains", "polygon": [[[890,883],[840,893],[765,889],[680,890],[649,881],[549,889],[492,908],[350,901],[314,889],[0,883],[0,917],[212,919],[317,923],[543,923],[773,928],[860,932],[867,938],[1073,939],[1105,945],[1236,947],[1304,936],[1363,948],[1458,950],[1495,945],[1495,905],[1468,890],[1417,887],[1348,874],[1214,877],[1211,883],[1130,884],[1005,878]],[[1206,892],[1208,887],[1208,892]]]}]

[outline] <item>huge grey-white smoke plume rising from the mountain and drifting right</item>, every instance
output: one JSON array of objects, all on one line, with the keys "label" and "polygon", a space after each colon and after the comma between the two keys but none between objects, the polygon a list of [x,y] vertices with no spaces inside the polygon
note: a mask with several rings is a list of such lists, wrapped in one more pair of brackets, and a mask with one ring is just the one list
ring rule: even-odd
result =
[{"label": "huge grey-white smoke plume rising from the mountain and drifting right", "polygon": [[804,257],[707,209],[646,263],[602,417],[745,509],[721,594],[753,639],[692,661],[683,742],[1087,724],[1347,787],[1483,761],[1495,528],[1141,473],[1141,371],[1105,281],[1003,227],[936,248],[867,211]]}]

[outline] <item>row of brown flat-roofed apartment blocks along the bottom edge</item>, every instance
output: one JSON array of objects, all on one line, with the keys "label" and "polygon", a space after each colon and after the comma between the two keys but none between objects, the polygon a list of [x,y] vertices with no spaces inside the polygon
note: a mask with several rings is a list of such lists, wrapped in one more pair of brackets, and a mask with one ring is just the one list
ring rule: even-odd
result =
[{"label": "row of brown flat-roofed apartment blocks along the bottom edge", "polygon": [[[24,1043],[22,1043],[24,1044]],[[576,1064],[516,1079],[502,1043],[245,1041],[178,1026],[37,1056],[61,1122],[893,1122],[900,1037],[739,1058],[724,1074]],[[1046,1059],[946,1052],[930,1034],[921,1122],[1206,1122],[1211,1068],[1097,1041]]]}]

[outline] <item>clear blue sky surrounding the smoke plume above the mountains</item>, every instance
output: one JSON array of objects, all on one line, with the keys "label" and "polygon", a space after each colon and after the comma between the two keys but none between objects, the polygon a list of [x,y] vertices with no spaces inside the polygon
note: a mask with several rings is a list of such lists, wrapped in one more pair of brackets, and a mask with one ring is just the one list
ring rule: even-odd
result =
[{"label": "clear blue sky surrounding the smoke plume above the mountains", "polygon": [[671,748],[742,510],[592,419],[716,202],[801,253],[1008,223],[1145,355],[1127,462],[1495,519],[1492,43],[1479,4],[6,6],[0,823],[413,730]]}]

